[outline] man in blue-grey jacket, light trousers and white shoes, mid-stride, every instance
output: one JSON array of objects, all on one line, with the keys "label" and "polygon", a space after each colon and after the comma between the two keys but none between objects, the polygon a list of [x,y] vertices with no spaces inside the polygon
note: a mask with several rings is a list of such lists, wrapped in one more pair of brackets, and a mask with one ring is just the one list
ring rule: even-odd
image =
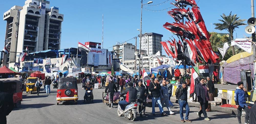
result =
[{"label": "man in blue-grey jacket, light trousers and white shoes, mid-stride", "polygon": [[166,87],[166,81],[163,80],[162,81],[162,84],[161,84],[161,90],[160,90],[160,94],[161,94],[161,104],[162,106],[164,105],[165,103],[165,106],[167,108],[167,110],[169,111],[169,114],[174,114],[174,112],[171,111],[171,108],[170,108],[170,104],[169,104],[169,95],[168,95],[168,88]]}]

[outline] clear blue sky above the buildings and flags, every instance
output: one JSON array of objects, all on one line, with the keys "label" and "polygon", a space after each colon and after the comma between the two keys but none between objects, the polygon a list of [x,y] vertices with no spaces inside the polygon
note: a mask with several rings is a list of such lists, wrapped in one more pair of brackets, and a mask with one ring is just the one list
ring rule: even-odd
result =
[{"label": "clear blue sky above the buildings and flags", "polygon": [[[166,0],[152,0],[155,5]],[[146,3],[148,1],[144,1]],[[162,40],[168,40],[173,34],[163,28],[165,22],[172,23],[174,19],[167,14],[168,10],[163,10],[173,5],[167,1],[158,6],[144,6],[142,13],[142,32],[154,32],[162,34]],[[237,14],[240,19],[249,19],[251,17],[251,1],[241,0],[196,0],[200,8],[202,17],[209,32],[228,33],[214,29],[213,23],[219,23],[220,15],[228,15],[230,11]],[[0,13],[6,12],[12,6],[23,6],[25,0],[1,1]],[[59,13],[64,14],[62,22],[61,49],[77,47],[77,41],[101,42],[102,38],[102,14],[104,14],[104,48],[112,50],[112,45],[118,42],[124,42],[139,34],[136,30],[140,28],[140,0],[51,0],[50,7],[59,7]],[[174,8],[174,7],[172,7]],[[172,9],[170,8],[170,9]],[[191,8],[191,7],[190,7]],[[3,19],[3,18],[2,18]],[[247,22],[245,22],[247,24]],[[244,32],[245,26],[240,26],[234,32],[238,38],[243,35],[249,36]],[[6,21],[0,21],[0,48],[4,46]],[[135,44],[135,39],[128,41]],[[138,42],[137,42],[138,43]],[[163,54],[164,50],[163,50]],[[165,54],[166,55],[166,54]]]}]

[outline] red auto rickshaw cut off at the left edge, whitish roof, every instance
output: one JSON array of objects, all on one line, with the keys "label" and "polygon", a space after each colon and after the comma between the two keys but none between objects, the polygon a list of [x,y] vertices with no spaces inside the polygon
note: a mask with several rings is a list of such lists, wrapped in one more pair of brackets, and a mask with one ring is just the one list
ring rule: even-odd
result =
[{"label": "red auto rickshaw cut off at the left edge, whitish roof", "polygon": [[11,77],[0,79],[0,82],[3,82],[4,84],[4,92],[12,94],[14,105],[19,107],[22,101],[22,78]]}]

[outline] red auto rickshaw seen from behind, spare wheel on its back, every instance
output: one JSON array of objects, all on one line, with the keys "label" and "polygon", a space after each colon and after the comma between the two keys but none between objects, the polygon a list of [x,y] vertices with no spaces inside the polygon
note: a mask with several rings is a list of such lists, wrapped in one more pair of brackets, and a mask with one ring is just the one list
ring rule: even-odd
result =
[{"label": "red auto rickshaw seen from behind, spare wheel on its back", "polygon": [[62,101],[74,101],[77,104],[78,89],[75,77],[61,77],[58,81],[57,105]]}]

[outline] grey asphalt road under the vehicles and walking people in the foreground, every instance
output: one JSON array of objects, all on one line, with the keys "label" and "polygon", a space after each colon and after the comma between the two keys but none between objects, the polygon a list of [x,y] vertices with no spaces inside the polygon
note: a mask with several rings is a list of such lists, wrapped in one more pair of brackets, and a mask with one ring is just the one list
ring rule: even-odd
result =
[{"label": "grey asphalt road under the vehicles and walking people in the foreground", "polygon": [[[125,117],[119,117],[117,115],[117,105],[114,104],[114,108],[109,108],[108,105],[102,103],[102,91],[104,89],[94,89],[94,102],[87,104],[83,103],[83,96],[85,90],[82,89],[82,85],[78,84],[78,105],[72,102],[61,102],[56,105],[57,89],[52,89],[51,93],[46,94],[43,89],[39,96],[36,92],[29,94],[23,92],[23,101],[20,108],[15,108],[8,116],[8,124],[72,124],[72,123],[92,123],[92,124],[105,124],[105,123],[119,123],[119,124],[132,124],[132,123],[181,123],[179,115],[179,106],[175,104],[172,108],[174,115],[167,115],[161,117],[159,109],[156,107],[156,116],[151,115],[152,108],[147,105],[146,115],[143,118],[137,117],[136,121],[131,121]],[[41,87],[42,88],[42,87]],[[190,107],[189,119],[192,123],[197,124],[234,124],[238,123],[235,115],[230,115],[221,112],[207,112],[211,121],[206,121],[198,118],[196,112],[198,107]],[[138,110],[137,110],[138,111]],[[164,108],[167,113],[167,108]],[[184,114],[185,117],[185,114]],[[244,122],[244,118],[242,118]],[[186,122],[187,123],[187,122]]]}]

